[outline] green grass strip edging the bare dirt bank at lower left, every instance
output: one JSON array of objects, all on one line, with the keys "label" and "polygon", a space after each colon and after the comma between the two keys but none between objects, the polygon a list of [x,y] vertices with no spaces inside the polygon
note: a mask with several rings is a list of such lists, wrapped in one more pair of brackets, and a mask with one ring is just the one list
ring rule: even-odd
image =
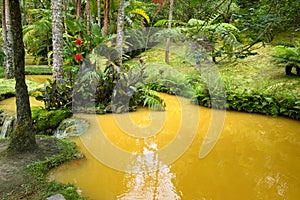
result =
[{"label": "green grass strip edging the bare dirt bank at lower left", "polygon": [[[76,186],[72,184],[61,184],[54,181],[48,181],[46,175],[48,171],[64,162],[81,158],[82,155],[78,153],[76,144],[67,140],[58,140],[46,136],[37,136],[43,138],[43,145],[39,148],[43,151],[53,151],[53,149],[59,150],[59,154],[55,153],[53,156],[46,157],[37,162],[33,162],[28,165],[24,171],[26,176],[29,177],[29,181],[21,185],[20,188],[13,188],[13,190],[7,193],[2,199],[46,199],[49,196],[55,194],[62,194],[67,200],[83,200],[85,198],[80,197],[77,193]],[[51,142],[51,140],[55,140]],[[4,140],[3,140],[4,141]],[[2,142],[3,142],[2,141]],[[0,141],[1,142],[1,141]],[[54,145],[57,144],[58,145]],[[56,151],[56,150],[55,150]]]}]

